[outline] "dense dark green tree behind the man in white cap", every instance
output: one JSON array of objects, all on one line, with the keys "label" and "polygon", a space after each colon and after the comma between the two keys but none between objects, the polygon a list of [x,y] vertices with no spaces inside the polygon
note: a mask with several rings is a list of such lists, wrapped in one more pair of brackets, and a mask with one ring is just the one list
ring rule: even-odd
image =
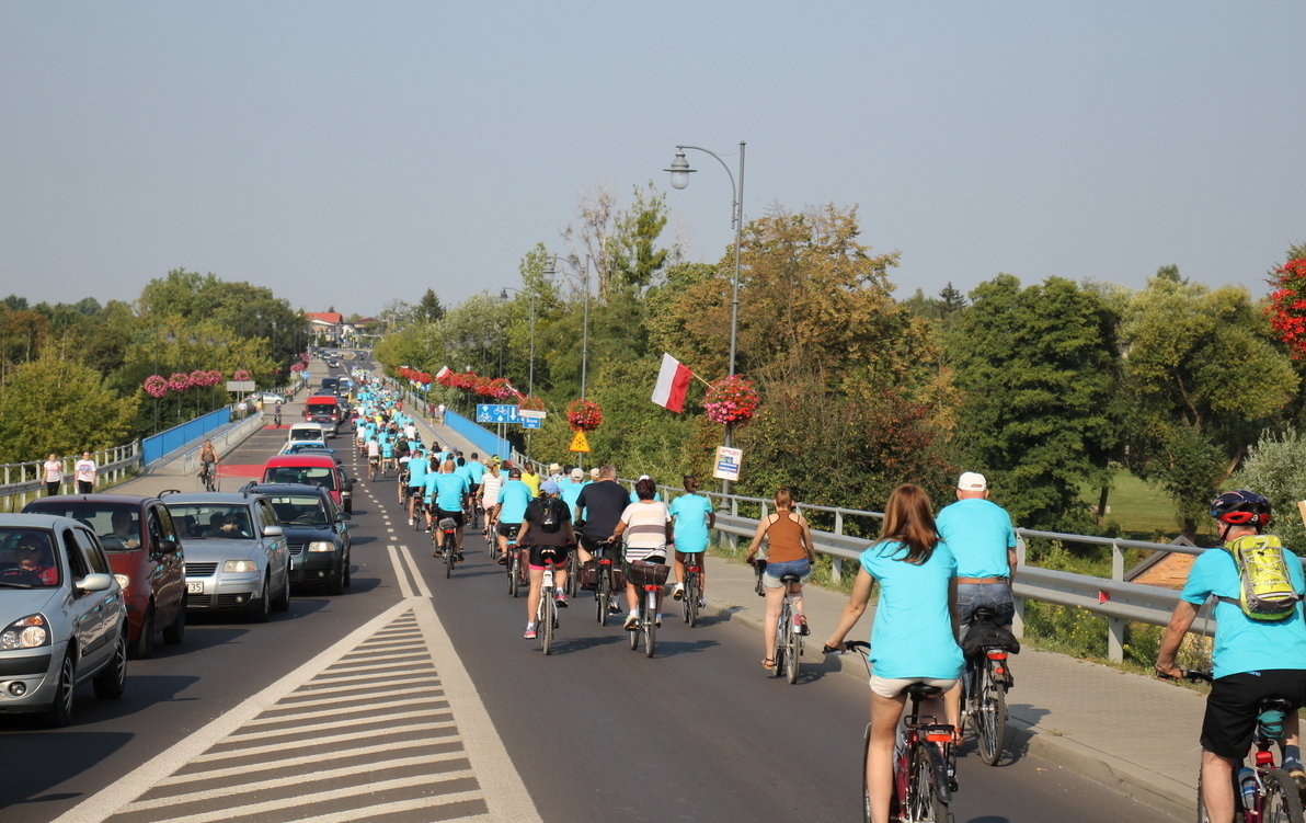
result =
[{"label": "dense dark green tree behind the man in white cap", "polygon": [[1101,485],[1119,442],[1115,317],[1092,291],[999,274],[970,293],[948,338],[965,468],[991,476],[1021,525],[1085,528],[1085,482]]}]

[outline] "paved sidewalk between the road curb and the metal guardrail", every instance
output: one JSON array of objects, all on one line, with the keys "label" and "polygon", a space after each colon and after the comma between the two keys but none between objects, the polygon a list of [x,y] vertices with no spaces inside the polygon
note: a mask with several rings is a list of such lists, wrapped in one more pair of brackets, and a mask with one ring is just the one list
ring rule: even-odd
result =
[{"label": "paved sidewalk between the road curb and the metal guardrail", "polygon": [[[709,557],[707,575],[708,611],[757,630],[760,660],[765,601],[754,590],[752,568]],[[820,665],[821,647],[848,597],[807,585],[803,601],[811,626],[803,662]],[[872,619],[874,607],[849,637],[868,639]],[[831,656],[827,662],[866,679],[855,654]],[[1045,758],[1168,815],[1192,816],[1203,695],[1028,647],[1012,657],[1011,668],[1016,686],[1007,708],[1016,734],[1008,737],[1008,751]]]}]

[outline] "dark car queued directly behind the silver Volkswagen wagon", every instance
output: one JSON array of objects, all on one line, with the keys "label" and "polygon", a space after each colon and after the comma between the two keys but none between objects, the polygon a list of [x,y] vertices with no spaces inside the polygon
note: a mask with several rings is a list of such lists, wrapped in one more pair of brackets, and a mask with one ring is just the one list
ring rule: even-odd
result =
[{"label": "dark car queued directly behind the silver Volkswagen wagon", "polygon": [[321,486],[249,483],[248,490],[272,502],[290,545],[290,583],[319,585],[343,594],[350,583],[350,516],[336,507]]}]

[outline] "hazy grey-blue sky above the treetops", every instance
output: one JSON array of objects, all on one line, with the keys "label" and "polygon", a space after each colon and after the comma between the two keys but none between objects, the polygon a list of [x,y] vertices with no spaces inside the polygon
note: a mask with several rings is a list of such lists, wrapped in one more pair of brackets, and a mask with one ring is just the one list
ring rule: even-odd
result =
[{"label": "hazy grey-blue sky above the treetops", "polygon": [[[0,294],[170,269],[374,315],[520,286],[596,187],[688,260],[858,206],[899,297],[1000,272],[1267,291],[1306,242],[1299,0],[0,3]],[[744,307],[746,311],[746,307]]]}]

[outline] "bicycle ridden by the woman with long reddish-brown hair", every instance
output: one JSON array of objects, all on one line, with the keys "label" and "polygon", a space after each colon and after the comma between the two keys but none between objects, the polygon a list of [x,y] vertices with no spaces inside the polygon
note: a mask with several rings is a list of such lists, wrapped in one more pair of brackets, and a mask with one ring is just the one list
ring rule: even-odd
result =
[{"label": "bicycle ridden by the woman with long reddish-brown hair", "polygon": [[[862,653],[867,675],[871,664],[867,654],[871,644],[845,640],[844,648]],[[827,654],[837,649],[824,647]],[[938,686],[912,683],[906,687],[912,708],[902,717],[893,743],[893,797],[889,798],[889,819],[904,823],[949,823],[948,805],[957,790],[952,750],[952,726],[935,717],[921,715],[921,702],[943,694]],[[866,766],[871,752],[871,725],[866,724],[862,746],[862,819],[870,823],[871,793],[866,781]]]}]

